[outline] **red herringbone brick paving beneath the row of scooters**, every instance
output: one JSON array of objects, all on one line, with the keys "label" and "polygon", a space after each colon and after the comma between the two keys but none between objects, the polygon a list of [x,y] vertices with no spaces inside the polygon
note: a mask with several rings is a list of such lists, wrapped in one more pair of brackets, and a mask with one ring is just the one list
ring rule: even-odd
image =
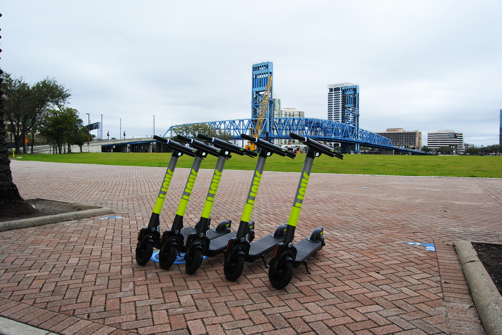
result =
[{"label": "red herringbone brick paving beneath the row of scooters", "polygon": [[[502,179],[312,174],[297,240],[323,225],[327,245],[283,290],[261,261],[238,282],[223,257],[195,275],[134,260],[165,168],[11,163],[25,198],[111,207],[82,219],[0,233],[0,316],[62,334],[483,334],[452,247],[502,240]],[[203,206],[201,170],[186,221]],[[177,169],[161,216],[170,225],[188,169]],[[252,172],[225,171],[213,222],[238,222]],[[257,237],[287,221],[299,174],[266,172]],[[436,251],[406,242],[434,243]]]}]

